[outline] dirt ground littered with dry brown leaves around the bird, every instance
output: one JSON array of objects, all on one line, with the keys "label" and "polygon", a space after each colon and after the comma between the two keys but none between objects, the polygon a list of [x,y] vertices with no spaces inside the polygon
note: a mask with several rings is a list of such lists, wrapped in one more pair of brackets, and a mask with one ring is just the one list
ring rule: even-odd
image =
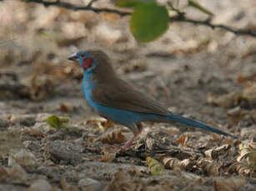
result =
[{"label": "dirt ground littered with dry brown leaves around the bird", "polygon": [[[214,12],[213,23],[256,30],[253,0],[198,2]],[[140,44],[128,19],[0,2],[0,191],[256,190],[256,38],[173,22]],[[105,51],[119,76],[169,110],[238,140],[144,123],[131,149],[110,146],[132,133],[89,109],[81,68],[68,61],[91,49]],[[54,128],[51,115],[69,121]]]}]

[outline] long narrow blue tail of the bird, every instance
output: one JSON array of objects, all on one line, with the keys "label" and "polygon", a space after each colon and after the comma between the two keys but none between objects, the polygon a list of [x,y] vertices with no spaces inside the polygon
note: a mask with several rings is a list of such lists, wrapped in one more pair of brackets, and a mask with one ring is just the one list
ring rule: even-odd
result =
[{"label": "long narrow blue tail of the bird", "polygon": [[202,122],[199,122],[197,120],[191,120],[191,119],[188,119],[188,118],[185,118],[183,116],[176,115],[176,114],[173,114],[173,113],[170,113],[170,115],[168,115],[168,120],[174,120],[174,121],[177,121],[177,122],[182,123],[182,124],[191,125],[193,127],[197,127],[197,128],[203,129],[203,130],[208,130],[208,131],[211,131],[213,133],[217,133],[219,135],[231,136],[231,137],[237,139],[237,137],[235,137],[233,135],[230,135],[228,133],[225,133],[222,130],[218,130],[218,129],[213,128],[209,125],[203,124]]}]

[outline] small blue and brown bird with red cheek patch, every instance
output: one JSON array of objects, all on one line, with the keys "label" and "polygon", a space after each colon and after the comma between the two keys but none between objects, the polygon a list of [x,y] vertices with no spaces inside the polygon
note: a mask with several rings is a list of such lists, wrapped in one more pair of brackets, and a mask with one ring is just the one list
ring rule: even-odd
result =
[{"label": "small blue and brown bird with red cheek patch", "polygon": [[103,118],[124,125],[133,132],[133,137],[122,146],[123,149],[133,145],[143,130],[143,121],[179,122],[235,138],[203,122],[169,111],[153,96],[118,77],[111,65],[112,61],[101,50],[78,51],[69,56],[68,60],[78,62],[83,69],[82,90],[88,105]]}]

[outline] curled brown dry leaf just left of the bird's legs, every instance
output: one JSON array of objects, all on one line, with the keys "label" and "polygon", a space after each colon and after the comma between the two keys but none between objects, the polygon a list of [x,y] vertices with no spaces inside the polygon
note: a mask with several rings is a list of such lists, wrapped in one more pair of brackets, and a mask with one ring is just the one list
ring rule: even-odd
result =
[{"label": "curled brown dry leaf just left of the bird's legs", "polygon": [[112,130],[111,132],[100,136],[99,140],[103,144],[122,144],[126,141],[125,136],[122,133],[122,129]]}]

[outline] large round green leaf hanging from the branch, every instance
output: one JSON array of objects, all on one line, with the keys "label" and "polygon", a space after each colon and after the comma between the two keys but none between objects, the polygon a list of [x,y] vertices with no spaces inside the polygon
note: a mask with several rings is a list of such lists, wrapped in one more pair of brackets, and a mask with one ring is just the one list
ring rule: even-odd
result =
[{"label": "large round green leaf hanging from the branch", "polygon": [[151,42],[168,29],[168,10],[157,3],[141,3],[132,14],[130,29],[138,42]]}]

